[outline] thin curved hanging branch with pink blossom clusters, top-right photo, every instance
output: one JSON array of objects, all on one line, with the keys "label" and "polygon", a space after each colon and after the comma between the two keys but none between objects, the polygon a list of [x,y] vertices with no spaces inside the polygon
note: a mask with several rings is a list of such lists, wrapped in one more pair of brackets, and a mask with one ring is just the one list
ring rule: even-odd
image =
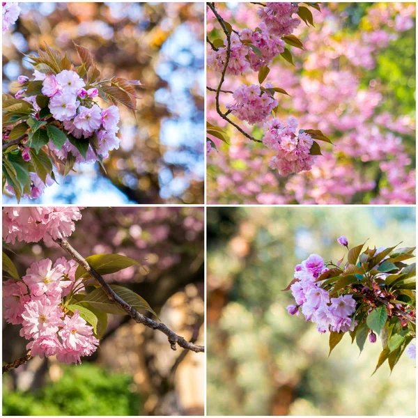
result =
[{"label": "thin curved hanging branch with pink blossom clusters, top-right photo", "polygon": [[[309,26],[314,24],[312,13],[309,8],[297,6],[297,3],[254,4],[262,6],[258,10],[258,16],[261,18],[259,26],[254,31],[243,29],[238,32],[219,14],[215,3],[208,3],[208,8],[215,15],[226,40],[211,41],[207,38],[210,45],[208,66],[221,73],[217,88],[210,86],[207,88],[208,91],[215,93],[217,114],[224,121],[235,127],[247,139],[262,143],[274,150],[277,155],[270,160],[272,169],[277,169],[282,176],[308,171],[316,162],[318,155],[322,155],[317,141],[331,144],[330,139],[320,130],[297,131],[298,123],[295,118],[289,118],[286,124],[281,123],[277,118],[269,119],[279,108],[279,101],[274,98],[274,94],[288,95],[288,93],[271,82],[267,82],[265,86],[263,83],[270,72],[268,64],[276,56],[280,55],[286,61],[293,63],[291,52],[285,48],[285,43],[303,49],[300,39],[292,35],[293,29],[300,24],[300,20],[293,15],[297,14]],[[318,3],[307,3],[307,6],[320,10]],[[222,89],[226,74],[239,75],[247,70],[258,72],[259,85],[242,84],[234,91]],[[221,93],[232,93],[235,100],[234,104],[226,105],[226,111],[221,110],[219,100]],[[265,130],[263,140],[245,132],[238,123],[231,120],[230,114],[250,125],[263,124]],[[207,133],[207,153],[210,153],[212,148],[216,149],[214,137],[227,143],[226,134],[220,127],[208,123]]]}]

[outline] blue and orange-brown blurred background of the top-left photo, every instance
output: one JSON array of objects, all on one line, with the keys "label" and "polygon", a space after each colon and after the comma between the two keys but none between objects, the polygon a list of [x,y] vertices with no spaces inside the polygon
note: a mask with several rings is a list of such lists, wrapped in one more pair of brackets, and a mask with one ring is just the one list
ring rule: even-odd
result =
[{"label": "blue and orange-brown blurred background of the top-left photo", "polygon": [[[121,147],[25,203],[203,203],[203,3],[19,3],[3,35],[3,92],[33,70],[44,42],[79,63],[87,47],[104,77],[138,79],[137,118],[122,105]],[[5,198],[15,203],[14,196]]]}]

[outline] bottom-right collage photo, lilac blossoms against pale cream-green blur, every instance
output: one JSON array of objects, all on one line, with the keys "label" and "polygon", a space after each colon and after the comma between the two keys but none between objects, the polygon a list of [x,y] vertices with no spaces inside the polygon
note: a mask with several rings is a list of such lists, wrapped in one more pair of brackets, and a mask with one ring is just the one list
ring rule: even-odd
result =
[{"label": "bottom-right collage photo, lilac blossoms against pale cream-green blur", "polygon": [[208,208],[208,416],[415,416],[415,231],[415,208]]}]

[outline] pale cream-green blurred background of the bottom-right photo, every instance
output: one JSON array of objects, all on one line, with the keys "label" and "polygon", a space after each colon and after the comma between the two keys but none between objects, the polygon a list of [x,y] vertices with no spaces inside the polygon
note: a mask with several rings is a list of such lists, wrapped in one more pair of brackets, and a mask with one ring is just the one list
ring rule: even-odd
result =
[{"label": "pale cream-green blurred background of the bottom-right photo", "polygon": [[329,334],[300,316],[281,289],[316,253],[339,260],[370,247],[415,246],[413,208],[208,208],[208,415],[415,415],[415,362],[392,376],[382,350],[362,355],[345,336],[330,358]]}]

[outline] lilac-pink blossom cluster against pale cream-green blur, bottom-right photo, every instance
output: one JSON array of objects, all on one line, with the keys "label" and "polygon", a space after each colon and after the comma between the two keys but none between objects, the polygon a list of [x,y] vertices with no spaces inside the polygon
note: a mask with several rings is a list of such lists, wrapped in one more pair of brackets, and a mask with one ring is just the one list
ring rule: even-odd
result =
[{"label": "lilac-pink blossom cluster against pale cream-green blur, bottom-right photo", "polygon": [[305,320],[316,323],[318,332],[322,334],[327,331],[353,331],[356,325],[350,318],[356,307],[353,296],[330,297],[330,293],[320,287],[318,277],[328,270],[318,254],[311,254],[307,260],[296,265],[296,281],[291,286],[296,304],[289,305],[287,310],[291,315],[299,315],[301,309]]}]

